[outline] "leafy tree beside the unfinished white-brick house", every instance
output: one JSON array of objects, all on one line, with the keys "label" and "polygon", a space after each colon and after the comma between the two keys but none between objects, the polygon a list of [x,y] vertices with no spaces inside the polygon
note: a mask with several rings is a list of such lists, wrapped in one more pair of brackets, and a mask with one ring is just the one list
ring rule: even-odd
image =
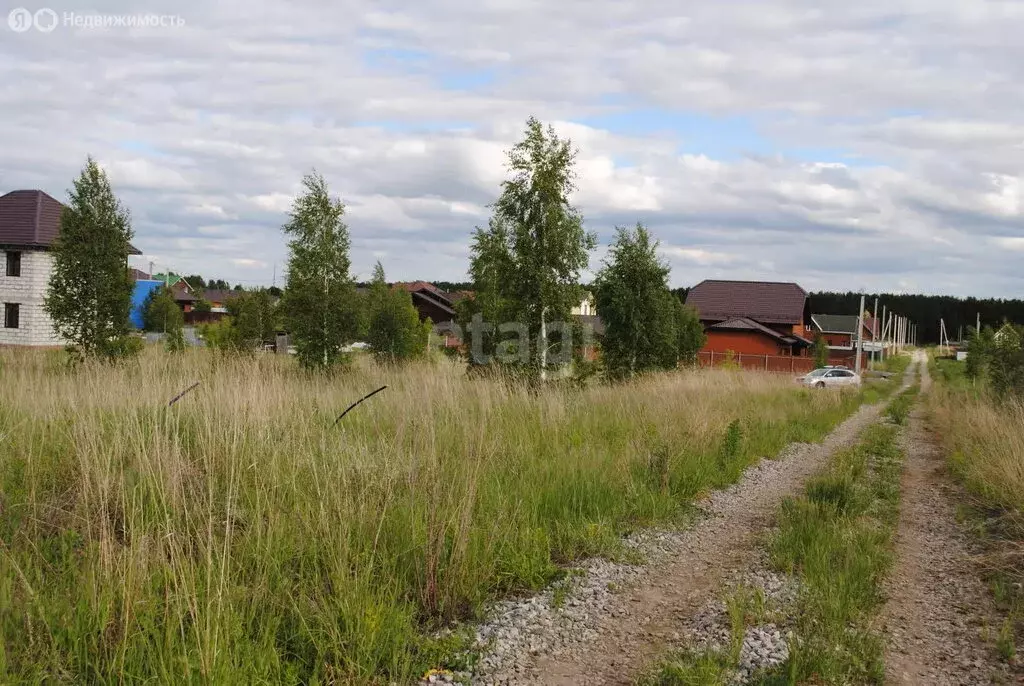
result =
[{"label": "leafy tree beside the unfinished white-brick house", "polygon": [[131,219],[91,157],[74,183],[43,306],[73,347],[88,356],[116,357],[133,349],[127,345],[134,288],[128,273]]}]

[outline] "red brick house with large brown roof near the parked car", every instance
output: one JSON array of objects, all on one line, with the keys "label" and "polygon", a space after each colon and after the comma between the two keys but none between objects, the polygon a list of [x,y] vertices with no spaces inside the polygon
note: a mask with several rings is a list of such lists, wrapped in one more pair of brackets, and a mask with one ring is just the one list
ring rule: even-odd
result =
[{"label": "red brick house with large brown roof near the parked car", "polygon": [[807,292],[793,283],[708,280],[686,296],[696,308],[715,355],[808,356]]}]

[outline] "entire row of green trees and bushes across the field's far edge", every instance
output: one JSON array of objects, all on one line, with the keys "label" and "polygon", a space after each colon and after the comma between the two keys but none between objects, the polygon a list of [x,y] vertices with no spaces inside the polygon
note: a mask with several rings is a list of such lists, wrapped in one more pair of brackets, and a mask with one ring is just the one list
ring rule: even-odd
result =
[{"label": "entire row of green trees and bushes across the field's far edge", "polygon": [[[475,297],[460,304],[460,324],[477,336],[472,346],[487,353],[511,350],[514,366],[540,380],[579,358],[583,344],[571,309],[583,300],[580,274],[597,240],[569,202],[575,157],[569,140],[534,118],[527,121],[523,139],[509,151],[510,178],[490,221],[473,234],[469,273]],[[323,176],[306,176],[283,227],[289,261],[280,309],[266,290],[245,293],[230,302],[224,324],[207,330],[208,340],[216,347],[253,349],[280,319],[307,368],[337,365],[364,336],[381,359],[425,351],[427,328],[410,295],[387,287],[379,264],[369,296],[356,297],[344,213]],[[62,219],[46,301],[58,333],[86,354],[115,356],[132,347],[126,343],[132,284],[125,268],[131,238],[128,212],[90,159]],[[657,246],[640,224],[617,229],[592,286],[605,324],[603,361],[612,378],[691,361],[702,345],[695,312],[669,290],[669,267]],[[198,274],[189,278],[201,288],[209,285]],[[168,347],[183,347],[181,314],[170,294],[158,294],[146,315],[148,326],[168,333]],[[476,331],[469,326],[474,318],[514,325],[518,337],[503,338],[501,328]]]}]

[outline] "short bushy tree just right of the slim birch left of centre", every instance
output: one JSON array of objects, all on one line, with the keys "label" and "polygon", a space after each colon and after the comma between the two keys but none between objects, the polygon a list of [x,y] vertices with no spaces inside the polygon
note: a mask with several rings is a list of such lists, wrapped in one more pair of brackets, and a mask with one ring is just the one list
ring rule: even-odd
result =
[{"label": "short bushy tree just right of the slim birch left of centre", "polygon": [[380,262],[374,267],[368,313],[367,343],[377,361],[402,362],[426,352],[429,319],[420,324],[420,315],[408,291],[388,288]]}]

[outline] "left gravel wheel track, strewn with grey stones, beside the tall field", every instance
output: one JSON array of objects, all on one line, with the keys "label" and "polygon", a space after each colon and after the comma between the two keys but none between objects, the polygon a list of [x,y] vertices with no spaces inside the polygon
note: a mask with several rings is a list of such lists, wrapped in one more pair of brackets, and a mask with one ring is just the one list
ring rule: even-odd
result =
[{"label": "left gravel wheel track, strewn with grey stones, beside the tall field", "polygon": [[[904,385],[912,379],[907,371]],[[630,684],[657,654],[689,634],[692,616],[750,567],[778,502],[800,490],[835,451],[878,421],[864,405],[821,443],[794,444],[763,460],[733,486],[698,505],[706,516],[684,531],[647,531],[627,545],[643,565],[588,560],[562,585],[496,604],[477,629],[486,648],[473,684]],[[766,629],[771,636],[771,629]],[[440,678],[438,678],[440,680]]]}]

